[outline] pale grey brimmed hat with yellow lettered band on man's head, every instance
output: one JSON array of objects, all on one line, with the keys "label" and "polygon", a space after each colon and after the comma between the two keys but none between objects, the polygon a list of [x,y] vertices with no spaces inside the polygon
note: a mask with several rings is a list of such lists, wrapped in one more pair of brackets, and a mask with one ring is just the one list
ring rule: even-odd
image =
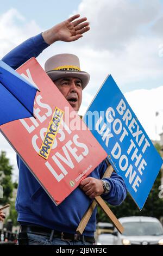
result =
[{"label": "pale grey brimmed hat with yellow lettered band on man's head", "polygon": [[45,63],[45,71],[53,81],[62,77],[77,77],[82,80],[84,89],[90,80],[90,75],[80,70],[79,58],[74,54],[57,54]]}]

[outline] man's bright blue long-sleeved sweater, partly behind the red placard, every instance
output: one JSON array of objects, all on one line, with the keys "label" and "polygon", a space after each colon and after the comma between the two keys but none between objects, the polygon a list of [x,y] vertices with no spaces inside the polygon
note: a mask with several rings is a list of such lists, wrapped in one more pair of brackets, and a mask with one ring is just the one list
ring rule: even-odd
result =
[{"label": "man's bright blue long-sleeved sweater, partly behind the red placard", "polygon": [[[20,65],[32,57],[37,57],[49,45],[43,40],[42,35],[36,35],[24,41],[9,52],[2,60],[17,69]],[[76,233],[76,229],[85,211],[92,202],[79,187],[68,196],[59,206],[55,206],[47,193],[40,186],[39,182],[30,173],[29,169],[17,156],[19,173],[18,191],[16,198],[17,221],[42,225],[54,230]],[[90,174],[91,177],[102,179],[107,168],[103,161]],[[110,182],[111,190],[102,196],[111,205],[119,205],[126,198],[127,189],[120,175],[112,173],[106,179]],[[96,230],[96,212],[93,211],[90,221],[86,225],[84,235],[93,236]]]}]

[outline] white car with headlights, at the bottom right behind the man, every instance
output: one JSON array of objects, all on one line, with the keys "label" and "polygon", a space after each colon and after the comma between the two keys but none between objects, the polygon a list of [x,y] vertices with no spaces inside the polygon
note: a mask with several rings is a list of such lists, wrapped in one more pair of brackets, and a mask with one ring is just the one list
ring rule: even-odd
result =
[{"label": "white car with headlights, at the bottom right behind the man", "polygon": [[123,234],[116,229],[114,245],[163,245],[163,227],[153,217],[123,217],[119,221],[124,227]]}]

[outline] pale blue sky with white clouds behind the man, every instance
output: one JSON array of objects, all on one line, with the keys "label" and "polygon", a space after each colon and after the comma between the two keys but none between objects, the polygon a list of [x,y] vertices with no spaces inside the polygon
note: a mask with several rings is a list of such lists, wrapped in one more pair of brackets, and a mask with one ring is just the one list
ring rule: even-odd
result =
[{"label": "pale blue sky with white clouds behind the man", "polygon": [[[56,42],[37,58],[73,53],[91,75],[79,113],[84,114],[105,77],[111,74],[151,139],[163,126],[163,1],[6,0],[0,9],[0,58],[22,41],[73,14],[86,16],[90,31],[76,42]],[[158,112],[159,115],[155,115]],[[0,135],[17,179],[16,154]]]}]

